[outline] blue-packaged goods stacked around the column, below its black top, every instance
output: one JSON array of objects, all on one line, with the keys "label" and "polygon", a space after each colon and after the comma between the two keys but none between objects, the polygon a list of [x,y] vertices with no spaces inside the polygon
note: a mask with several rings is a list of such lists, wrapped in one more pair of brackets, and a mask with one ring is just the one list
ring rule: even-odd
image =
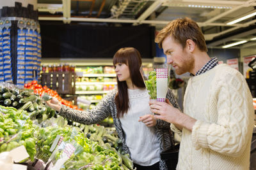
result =
[{"label": "blue-packaged goods stacked around the column, below its black top", "polygon": [[24,86],[24,83],[38,81],[40,78],[40,29],[38,23],[33,20],[19,20],[16,26],[17,36],[14,37],[17,38],[17,45],[11,45],[11,27],[13,25],[9,20],[0,20],[0,82]]}]

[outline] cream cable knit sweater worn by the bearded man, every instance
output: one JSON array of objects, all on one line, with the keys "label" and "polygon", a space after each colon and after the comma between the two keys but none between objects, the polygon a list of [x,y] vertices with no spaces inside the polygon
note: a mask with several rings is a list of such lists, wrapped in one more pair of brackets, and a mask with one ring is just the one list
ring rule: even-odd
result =
[{"label": "cream cable knit sweater worn by the bearded man", "polygon": [[182,130],[177,169],[249,169],[254,109],[238,71],[220,64],[190,78],[184,113],[197,121]]}]

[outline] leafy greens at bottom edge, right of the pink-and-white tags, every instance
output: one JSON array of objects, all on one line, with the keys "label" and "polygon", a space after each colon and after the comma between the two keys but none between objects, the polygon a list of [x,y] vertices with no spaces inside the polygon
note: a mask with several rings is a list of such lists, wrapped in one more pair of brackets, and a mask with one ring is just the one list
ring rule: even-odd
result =
[{"label": "leafy greens at bottom edge, right of the pink-and-white tags", "polygon": [[[74,139],[76,152],[65,162],[62,169],[121,169],[118,153],[109,148],[103,148],[95,141],[84,138],[81,132],[78,132]],[[60,157],[61,152],[56,155],[55,159],[58,160]]]}]

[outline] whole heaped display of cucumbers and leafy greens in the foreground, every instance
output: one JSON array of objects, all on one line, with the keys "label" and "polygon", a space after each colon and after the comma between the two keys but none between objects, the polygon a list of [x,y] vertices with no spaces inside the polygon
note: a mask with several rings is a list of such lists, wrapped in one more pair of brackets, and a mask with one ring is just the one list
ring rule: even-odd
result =
[{"label": "whole heaped display of cucumbers and leafy greens in the foreground", "polygon": [[[133,168],[115,128],[96,124],[76,124],[78,127],[67,125],[68,121],[63,117],[50,117],[51,108],[45,106],[42,98],[31,93],[31,90],[6,86],[1,86],[0,90],[0,97],[18,103],[15,107],[1,106],[3,102],[0,104],[0,152],[24,145],[29,154],[25,162],[41,159],[54,165],[63,159],[65,146],[72,146],[74,152],[61,165],[61,169]],[[61,136],[62,141],[50,151],[57,136]]]}]

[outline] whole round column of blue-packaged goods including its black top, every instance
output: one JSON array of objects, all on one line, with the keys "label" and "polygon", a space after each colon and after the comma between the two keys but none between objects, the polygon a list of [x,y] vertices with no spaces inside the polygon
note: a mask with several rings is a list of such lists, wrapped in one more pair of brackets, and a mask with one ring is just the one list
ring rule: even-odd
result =
[{"label": "whole round column of blue-packaged goods including its black top", "polygon": [[0,82],[24,86],[40,83],[41,37],[38,11],[33,5],[0,11]]}]

